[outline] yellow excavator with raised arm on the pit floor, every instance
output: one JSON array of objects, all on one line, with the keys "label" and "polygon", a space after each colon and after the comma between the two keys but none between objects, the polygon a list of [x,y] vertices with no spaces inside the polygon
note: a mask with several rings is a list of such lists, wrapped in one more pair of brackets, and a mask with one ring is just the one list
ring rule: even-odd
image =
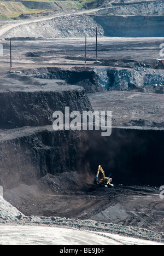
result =
[{"label": "yellow excavator with raised arm on the pit floor", "polygon": [[[101,179],[98,178],[99,172],[102,173],[102,178]],[[112,178],[106,177],[103,168],[101,167],[101,165],[99,165],[94,184],[102,185],[103,187],[106,187],[106,188],[114,187],[114,185],[111,184],[110,182],[112,182]]]}]

